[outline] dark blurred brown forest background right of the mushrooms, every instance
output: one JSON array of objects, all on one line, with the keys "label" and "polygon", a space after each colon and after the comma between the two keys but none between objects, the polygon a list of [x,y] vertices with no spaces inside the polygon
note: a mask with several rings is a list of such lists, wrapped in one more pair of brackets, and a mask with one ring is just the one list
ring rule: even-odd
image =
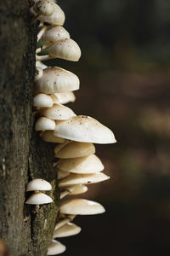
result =
[{"label": "dark blurred brown forest background right of the mushrooms", "polygon": [[169,255],[170,1],[58,3],[82,49],[79,62],[53,61],[81,80],[70,107],[109,126],[117,139],[96,145],[111,179],[82,195],[107,212],[77,217],[82,232],[59,240],[63,255]]}]

